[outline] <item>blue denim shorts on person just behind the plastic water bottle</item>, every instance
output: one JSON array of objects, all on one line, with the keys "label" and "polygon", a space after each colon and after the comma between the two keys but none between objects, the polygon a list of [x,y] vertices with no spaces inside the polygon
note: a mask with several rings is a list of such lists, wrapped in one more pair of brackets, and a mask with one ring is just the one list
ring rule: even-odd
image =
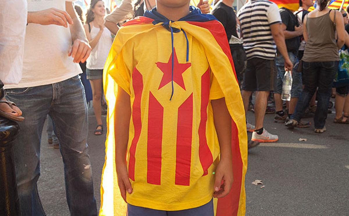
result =
[{"label": "blue denim shorts on person just behind the plastic water bottle", "polygon": [[[292,64],[294,65],[292,69],[292,89],[291,89],[291,97],[298,98],[300,94],[302,93],[302,73],[297,72],[297,66],[298,66],[298,58],[297,56],[289,52],[288,53],[290,60],[292,61]],[[276,62],[276,68],[277,68],[277,91],[276,93],[281,94],[282,93],[282,83],[283,83],[283,77],[285,75],[285,66],[284,66],[284,59],[282,55],[279,55],[275,58]]]}]

